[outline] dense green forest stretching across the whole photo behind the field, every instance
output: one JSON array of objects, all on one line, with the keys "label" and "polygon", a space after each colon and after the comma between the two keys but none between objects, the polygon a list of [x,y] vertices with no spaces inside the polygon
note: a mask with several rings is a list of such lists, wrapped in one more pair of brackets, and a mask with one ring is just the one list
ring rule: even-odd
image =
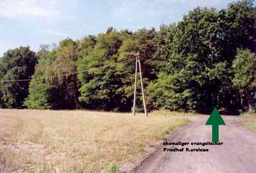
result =
[{"label": "dense green forest stretching across the whole photo behind the field", "polygon": [[97,36],[41,45],[38,52],[8,50],[0,59],[0,106],[129,112],[140,54],[149,110],[253,111],[255,53],[254,1],[195,8],[159,29],[109,27]]}]

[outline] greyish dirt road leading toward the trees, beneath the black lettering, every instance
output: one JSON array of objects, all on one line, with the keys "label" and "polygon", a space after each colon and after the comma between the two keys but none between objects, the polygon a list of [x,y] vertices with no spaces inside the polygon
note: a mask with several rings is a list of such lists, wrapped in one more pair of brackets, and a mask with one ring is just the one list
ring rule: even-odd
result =
[{"label": "greyish dirt road leading toward the trees, beneath the black lettering", "polygon": [[[193,123],[169,135],[168,142],[211,141],[211,126],[204,125],[207,118],[191,117]],[[256,133],[241,126],[239,117],[223,116],[223,119],[226,126],[220,126],[222,146],[189,146],[207,148],[209,152],[163,152],[166,146],[162,145],[136,173],[255,173]]]}]

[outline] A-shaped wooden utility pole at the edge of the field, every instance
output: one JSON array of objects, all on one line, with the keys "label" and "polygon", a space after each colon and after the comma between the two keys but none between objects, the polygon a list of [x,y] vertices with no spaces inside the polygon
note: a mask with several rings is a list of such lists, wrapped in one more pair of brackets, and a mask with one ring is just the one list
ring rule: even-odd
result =
[{"label": "A-shaped wooden utility pole at the edge of the field", "polygon": [[139,70],[140,70],[140,83],[141,83],[141,93],[142,93],[142,98],[143,98],[144,112],[145,112],[145,116],[147,117],[148,116],[148,114],[147,114],[147,105],[146,105],[145,94],[144,94],[143,79],[142,79],[142,73],[141,73],[140,56],[136,57],[134,98],[133,98],[133,109],[132,109],[132,111],[133,111],[133,116],[135,116],[138,65],[139,65]]}]

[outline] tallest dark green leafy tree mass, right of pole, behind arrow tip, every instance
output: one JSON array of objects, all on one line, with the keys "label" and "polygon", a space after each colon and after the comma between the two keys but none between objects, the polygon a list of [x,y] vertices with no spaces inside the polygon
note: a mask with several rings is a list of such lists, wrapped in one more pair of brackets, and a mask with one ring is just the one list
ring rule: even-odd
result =
[{"label": "tallest dark green leafy tree mass, right of pole, behind arrow tip", "polygon": [[198,112],[241,107],[232,87],[232,61],[237,48],[252,47],[255,40],[253,11],[252,1],[221,11],[196,8],[171,25],[163,51],[164,75],[150,86],[152,107]]}]

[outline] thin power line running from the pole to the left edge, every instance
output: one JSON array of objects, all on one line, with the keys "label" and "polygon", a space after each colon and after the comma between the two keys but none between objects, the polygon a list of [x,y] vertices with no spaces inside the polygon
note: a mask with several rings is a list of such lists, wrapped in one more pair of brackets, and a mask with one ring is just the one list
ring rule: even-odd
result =
[{"label": "thin power line running from the pole to the left edge", "polygon": [[[132,63],[132,61],[134,61],[134,59],[127,59],[125,61],[120,61],[120,62],[117,62],[117,63],[112,63],[112,64],[106,64],[104,66],[98,66],[98,67],[93,67],[89,70],[82,70],[82,71],[79,71],[79,72],[74,72],[74,73],[66,73],[66,74],[63,74],[63,75],[56,75],[56,76],[51,76],[51,77],[41,77],[41,78],[37,78],[37,79],[34,79],[34,80],[45,80],[45,79],[53,79],[53,78],[56,78],[56,77],[67,77],[67,76],[70,76],[70,75],[76,75],[78,73],[83,73],[83,72],[86,72],[86,71],[91,71],[91,70],[95,70],[95,69],[99,69],[99,68],[103,68],[103,67],[106,67],[106,66],[113,66],[115,64],[121,64],[121,63]],[[0,82],[28,82],[28,81],[31,81],[32,79],[20,79],[20,80],[0,80]]]}]

